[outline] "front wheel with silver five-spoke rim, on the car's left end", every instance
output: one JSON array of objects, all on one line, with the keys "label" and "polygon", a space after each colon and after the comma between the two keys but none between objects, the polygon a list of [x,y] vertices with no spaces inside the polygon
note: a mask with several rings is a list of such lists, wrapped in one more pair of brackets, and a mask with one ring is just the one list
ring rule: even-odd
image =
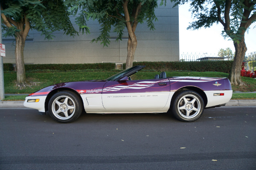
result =
[{"label": "front wheel with silver five-spoke rim, on the car's left end", "polygon": [[59,123],[70,123],[79,118],[83,105],[80,97],[71,91],[60,91],[54,94],[48,103],[52,119]]}]

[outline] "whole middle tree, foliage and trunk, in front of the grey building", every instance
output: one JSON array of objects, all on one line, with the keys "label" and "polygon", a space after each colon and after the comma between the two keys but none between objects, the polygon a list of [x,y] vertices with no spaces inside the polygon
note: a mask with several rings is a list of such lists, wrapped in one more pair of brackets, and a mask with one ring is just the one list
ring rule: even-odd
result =
[{"label": "whole middle tree, foliage and trunk, in front of the grey building", "polygon": [[[166,0],[161,0],[161,5]],[[126,68],[133,64],[137,47],[135,30],[138,23],[146,22],[150,30],[154,30],[157,17],[154,9],[157,0],[66,0],[70,10],[77,15],[76,23],[83,33],[90,33],[87,21],[98,20],[101,34],[93,41],[100,41],[103,46],[110,43],[110,32],[116,32],[116,40],[122,40],[125,28],[128,31]]]}]

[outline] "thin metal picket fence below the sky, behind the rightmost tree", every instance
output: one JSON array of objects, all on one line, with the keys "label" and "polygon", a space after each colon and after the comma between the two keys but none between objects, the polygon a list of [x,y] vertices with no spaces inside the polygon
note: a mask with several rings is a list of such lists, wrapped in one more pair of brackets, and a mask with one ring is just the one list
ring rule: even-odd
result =
[{"label": "thin metal picket fence below the sky, behind the rightmost tree", "polygon": [[[181,62],[184,62],[184,61],[210,61],[210,60],[214,60],[214,61],[233,60],[233,58],[218,57],[218,55],[216,55],[216,54],[207,54],[207,53],[203,53],[203,54],[183,53],[180,55]],[[246,71],[251,71],[251,73],[253,71],[256,71],[256,52],[247,54],[244,57],[244,62],[245,62],[244,69]]]}]

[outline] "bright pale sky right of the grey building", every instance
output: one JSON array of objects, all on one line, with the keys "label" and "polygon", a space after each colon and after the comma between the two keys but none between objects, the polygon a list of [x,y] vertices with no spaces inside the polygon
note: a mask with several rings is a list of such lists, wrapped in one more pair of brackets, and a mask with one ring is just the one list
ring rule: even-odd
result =
[{"label": "bright pale sky right of the grey building", "polygon": [[[216,54],[221,48],[230,48],[233,53],[235,48],[233,41],[221,36],[223,26],[221,23],[214,24],[210,28],[201,28],[199,30],[187,30],[189,23],[192,23],[189,4],[179,6],[179,32],[180,32],[180,55],[189,54]],[[255,28],[253,28],[255,27]],[[246,54],[256,51],[256,23],[250,26],[249,34],[245,33],[245,43],[247,46]]]}]

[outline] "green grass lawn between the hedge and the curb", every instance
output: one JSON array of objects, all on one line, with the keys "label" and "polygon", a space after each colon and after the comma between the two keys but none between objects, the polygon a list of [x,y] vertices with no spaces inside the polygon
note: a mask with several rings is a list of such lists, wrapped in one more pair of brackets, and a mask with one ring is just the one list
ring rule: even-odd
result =
[{"label": "green grass lawn between the hedge and the curb", "polygon": [[[16,86],[16,73],[5,72],[4,73],[4,86],[5,94],[31,94],[41,88],[47,87],[60,82],[72,82],[83,81],[91,79],[106,79],[116,72],[55,72],[55,73],[32,73],[27,72],[26,77],[30,82],[34,82],[33,85],[20,89]],[[153,79],[154,75],[160,74],[160,72],[144,72],[140,71],[133,75],[133,79]],[[167,77],[175,76],[194,76],[194,77],[228,77],[228,74],[221,72],[166,72]],[[256,91],[256,79],[249,77],[241,77],[242,81],[246,84],[243,87],[232,86],[233,91],[250,92]],[[241,96],[244,95],[244,96]],[[256,94],[234,94],[232,99],[256,99]],[[25,96],[6,96],[9,100],[23,100]]]}]

